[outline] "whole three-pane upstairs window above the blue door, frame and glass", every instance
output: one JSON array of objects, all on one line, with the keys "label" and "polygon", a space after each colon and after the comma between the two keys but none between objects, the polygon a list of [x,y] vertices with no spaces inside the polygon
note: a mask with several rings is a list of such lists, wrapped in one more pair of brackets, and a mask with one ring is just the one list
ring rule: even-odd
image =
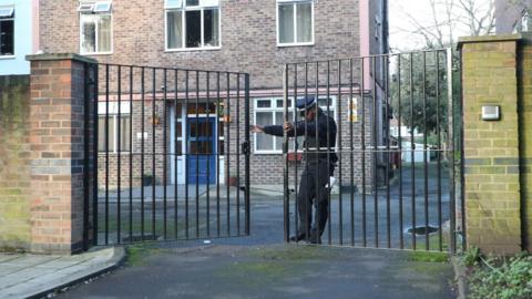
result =
[{"label": "whole three-pane upstairs window above the blue door, frame and glass", "polygon": [[219,48],[218,0],[166,0],[166,50]]}]

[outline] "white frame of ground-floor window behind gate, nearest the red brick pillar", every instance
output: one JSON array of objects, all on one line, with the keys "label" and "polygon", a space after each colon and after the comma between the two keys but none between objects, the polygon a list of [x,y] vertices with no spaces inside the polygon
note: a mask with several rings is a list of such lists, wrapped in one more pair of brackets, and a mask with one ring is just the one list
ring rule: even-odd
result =
[{"label": "white frame of ground-floor window behind gate, nearest the red brick pillar", "polygon": [[[98,104],[98,118],[100,120],[100,117],[102,117],[102,116],[105,117],[105,115],[108,115],[108,103],[100,102]],[[126,103],[126,102],[120,103],[120,116],[121,117],[130,116],[130,122],[133,122],[133,116],[132,116],[132,113],[131,113],[130,103]],[[119,153],[119,151],[117,151],[119,142],[120,142],[119,141],[119,103],[117,102],[110,102],[109,103],[109,118],[114,120],[113,127],[111,127],[111,126],[109,127],[110,132],[111,132],[111,130],[114,132],[114,134],[113,134],[114,138],[112,141],[113,142],[113,151],[109,151],[109,153],[110,154],[117,154]],[[105,134],[105,132],[98,132],[98,134]],[[122,133],[121,133],[121,136],[123,136]],[[104,138],[105,138],[105,136],[104,136]],[[130,150],[127,150],[127,151],[122,150],[122,151],[120,151],[120,153],[121,154],[129,154],[131,150],[133,150],[133,141],[130,141]],[[100,144],[99,144],[98,153],[99,154],[105,153],[105,151],[100,151]]]}]

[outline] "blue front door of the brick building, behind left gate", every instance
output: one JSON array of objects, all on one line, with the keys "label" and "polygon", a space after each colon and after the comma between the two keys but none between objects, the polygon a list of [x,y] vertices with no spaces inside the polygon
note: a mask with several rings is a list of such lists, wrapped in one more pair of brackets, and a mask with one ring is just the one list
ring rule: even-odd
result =
[{"label": "blue front door of the brick building, behind left gate", "polygon": [[188,117],[188,184],[216,184],[216,118]]}]

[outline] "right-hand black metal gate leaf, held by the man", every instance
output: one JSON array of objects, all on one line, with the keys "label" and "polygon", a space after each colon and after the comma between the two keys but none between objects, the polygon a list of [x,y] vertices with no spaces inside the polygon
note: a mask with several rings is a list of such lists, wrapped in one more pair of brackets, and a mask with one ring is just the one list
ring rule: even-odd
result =
[{"label": "right-hand black metal gate leaf, held by the man", "polygon": [[[293,113],[293,100],[314,96],[337,124],[336,146],[317,148],[327,154],[324,158],[338,156],[323,171],[334,168],[336,178],[324,195],[327,226],[316,228],[320,207],[313,198],[313,231],[300,238],[438,251],[463,245],[461,130],[453,121],[461,114],[453,66],[450,49],[286,64],[285,121],[309,122]],[[316,148],[309,150],[304,138],[285,136],[286,241],[301,235],[298,206],[310,205],[299,177]],[[314,194],[326,188],[314,185]]]}]

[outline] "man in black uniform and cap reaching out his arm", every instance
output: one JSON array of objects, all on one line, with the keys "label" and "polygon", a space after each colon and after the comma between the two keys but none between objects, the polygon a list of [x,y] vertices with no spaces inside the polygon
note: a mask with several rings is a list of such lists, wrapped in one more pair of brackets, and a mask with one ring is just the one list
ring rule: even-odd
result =
[{"label": "man in black uniform and cap reaching out his arm", "polygon": [[[290,237],[290,240],[308,240],[311,244],[319,244],[327,224],[328,192],[331,187],[329,177],[332,177],[338,161],[335,153],[336,122],[318,107],[314,96],[298,99],[296,107],[305,121],[295,125],[287,122],[283,126],[255,125],[252,127],[252,132],[275,136],[283,136],[286,132],[289,137],[305,136],[305,169],[299,181],[297,195],[299,226],[297,236]],[[314,227],[311,226],[313,203],[316,208]]]}]

